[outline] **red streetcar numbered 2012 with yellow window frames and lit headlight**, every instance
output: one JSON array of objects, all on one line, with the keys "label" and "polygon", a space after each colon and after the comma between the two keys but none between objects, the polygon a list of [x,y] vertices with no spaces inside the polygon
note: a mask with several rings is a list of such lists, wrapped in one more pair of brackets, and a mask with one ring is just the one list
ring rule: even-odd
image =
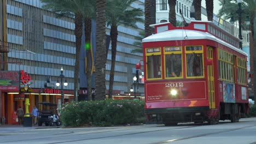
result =
[{"label": "red streetcar numbered 2012 with yellow window frames and lit headlight", "polygon": [[145,113],[165,125],[238,122],[248,113],[247,54],[213,22],[152,25],[142,40]]}]

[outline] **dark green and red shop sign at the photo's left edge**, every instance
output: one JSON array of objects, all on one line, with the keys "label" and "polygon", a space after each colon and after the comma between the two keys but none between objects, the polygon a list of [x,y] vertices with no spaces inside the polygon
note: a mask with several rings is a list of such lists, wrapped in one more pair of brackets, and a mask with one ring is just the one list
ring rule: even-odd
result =
[{"label": "dark green and red shop sign at the photo's left edge", "polygon": [[19,71],[0,71],[0,90],[3,92],[19,92]]}]

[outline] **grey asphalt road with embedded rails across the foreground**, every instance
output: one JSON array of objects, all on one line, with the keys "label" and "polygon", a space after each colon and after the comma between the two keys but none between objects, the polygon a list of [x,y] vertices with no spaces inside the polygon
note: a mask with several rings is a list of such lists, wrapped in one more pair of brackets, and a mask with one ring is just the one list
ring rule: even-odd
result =
[{"label": "grey asphalt road with embedded rails across the foreground", "polygon": [[[45,128],[45,127],[44,127]],[[97,128],[0,127],[0,143],[246,143],[256,144],[256,118],[217,125],[139,125]]]}]

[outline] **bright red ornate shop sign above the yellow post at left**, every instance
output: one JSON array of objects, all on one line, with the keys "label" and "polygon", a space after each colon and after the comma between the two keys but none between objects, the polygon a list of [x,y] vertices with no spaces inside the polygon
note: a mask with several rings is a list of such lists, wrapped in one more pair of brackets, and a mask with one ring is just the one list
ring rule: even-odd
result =
[{"label": "bright red ornate shop sign above the yellow post at left", "polygon": [[25,73],[24,70],[20,70],[20,91],[21,92],[32,92],[31,89],[31,77]]}]

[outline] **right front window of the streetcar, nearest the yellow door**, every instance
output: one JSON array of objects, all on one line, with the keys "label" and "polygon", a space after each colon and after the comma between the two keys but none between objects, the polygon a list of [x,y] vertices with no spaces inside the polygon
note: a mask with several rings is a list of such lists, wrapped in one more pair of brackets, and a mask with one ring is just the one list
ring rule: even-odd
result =
[{"label": "right front window of the streetcar, nearest the yellow door", "polygon": [[202,53],[187,53],[187,76],[203,76]]}]

